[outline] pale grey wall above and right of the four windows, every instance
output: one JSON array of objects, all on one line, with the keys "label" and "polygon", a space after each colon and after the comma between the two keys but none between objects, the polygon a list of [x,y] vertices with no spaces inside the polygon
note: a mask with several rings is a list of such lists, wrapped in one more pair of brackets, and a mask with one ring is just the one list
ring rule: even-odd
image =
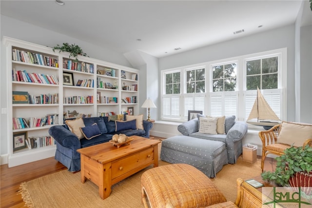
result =
[{"label": "pale grey wall above and right of the four windows", "polygon": [[294,120],[294,24],[159,59],[159,70],[287,48],[287,120]]}]

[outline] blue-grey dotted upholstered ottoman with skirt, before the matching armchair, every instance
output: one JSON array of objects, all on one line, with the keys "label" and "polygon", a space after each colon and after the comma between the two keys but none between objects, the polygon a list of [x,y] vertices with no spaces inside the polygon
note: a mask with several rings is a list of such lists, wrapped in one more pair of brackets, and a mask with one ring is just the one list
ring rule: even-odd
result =
[{"label": "blue-grey dotted upholstered ottoman with skirt, before the matching armchair", "polygon": [[228,164],[228,155],[223,142],[184,135],[162,141],[160,159],[168,163],[195,166],[210,178],[214,178],[215,174]]}]

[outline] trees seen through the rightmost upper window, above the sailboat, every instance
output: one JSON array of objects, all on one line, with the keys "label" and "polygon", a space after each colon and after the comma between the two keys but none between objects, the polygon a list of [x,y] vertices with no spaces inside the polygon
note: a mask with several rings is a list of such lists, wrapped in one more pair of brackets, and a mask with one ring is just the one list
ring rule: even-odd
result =
[{"label": "trees seen through the rightmost upper window, above the sailboat", "polygon": [[278,57],[247,61],[246,70],[247,90],[278,88]]}]

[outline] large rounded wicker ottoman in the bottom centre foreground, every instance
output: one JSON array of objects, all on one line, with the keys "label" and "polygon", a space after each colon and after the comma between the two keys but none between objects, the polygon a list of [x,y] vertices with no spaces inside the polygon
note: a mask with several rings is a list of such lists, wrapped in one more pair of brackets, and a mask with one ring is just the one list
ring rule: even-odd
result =
[{"label": "large rounded wicker ottoman in the bottom centre foreground", "polygon": [[145,171],[141,176],[145,208],[198,208],[226,202],[205,174],[188,164],[171,164]]}]

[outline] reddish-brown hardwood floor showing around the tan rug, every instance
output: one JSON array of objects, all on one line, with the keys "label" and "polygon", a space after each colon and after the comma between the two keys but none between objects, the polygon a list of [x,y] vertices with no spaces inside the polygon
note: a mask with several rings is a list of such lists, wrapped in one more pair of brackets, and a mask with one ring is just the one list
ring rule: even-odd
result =
[{"label": "reddish-brown hardwood floor showing around the tan rug", "polygon": [[[155,139],[162,139],[161,137],[152,137]],[[264,170],[274,170],[275,164],[275,160],[267,158],[265,160]],[[56,161],[54,157],[10,168],[7,164],[0,166],[0,207],[24,207],[25,204],[21,195],[17,194],[20,190],[20,183],[66,169],[67,168]]]}]

